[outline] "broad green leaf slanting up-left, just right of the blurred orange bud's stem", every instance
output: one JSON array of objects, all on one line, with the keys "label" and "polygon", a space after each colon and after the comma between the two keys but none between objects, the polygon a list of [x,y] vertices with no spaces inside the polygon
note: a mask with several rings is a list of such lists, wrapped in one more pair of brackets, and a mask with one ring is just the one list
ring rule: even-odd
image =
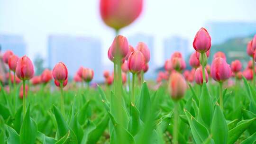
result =
[{"label": "broad green leaf slanting up-left, just right of the blurred orange bud's stem", "polygon": [[209,137],[209,131],[205,126],[200,124],[187,110],[184,109],[184,111],[189,121],[191,132],[196,144],[202,144]]}]

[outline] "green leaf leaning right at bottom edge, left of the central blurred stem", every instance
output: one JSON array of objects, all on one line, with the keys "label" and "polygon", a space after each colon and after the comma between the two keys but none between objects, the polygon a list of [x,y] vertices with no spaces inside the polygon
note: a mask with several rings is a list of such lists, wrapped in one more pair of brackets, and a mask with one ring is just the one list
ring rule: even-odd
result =
[{"label": "green leaf leaning right at bottom edge, left of the central blurred stem", "polygon": [[96,144],[99,141],[101,135],[104,133],[106,127],[109,124],[109,120],[110,118],[108,117],[108,115],[102,117],[102,120],[99,123],[99,125],[96,126],[96,128],[93,129],[91,133],[88,135],[87,144]]}]

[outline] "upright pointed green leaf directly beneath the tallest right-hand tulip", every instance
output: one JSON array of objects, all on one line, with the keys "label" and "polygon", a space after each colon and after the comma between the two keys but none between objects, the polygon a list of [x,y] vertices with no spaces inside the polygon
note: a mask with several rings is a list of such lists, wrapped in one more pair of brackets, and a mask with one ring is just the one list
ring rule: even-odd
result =
[{"label": "upright pointed green leaf directly beneath the tallest right-hand tulip", "polygon": [[207,128],[210,129],[213,116],[213,103],[205,82],[202,85],[202,92],[199,101],[199,112],[202,121],[207,126]]}]

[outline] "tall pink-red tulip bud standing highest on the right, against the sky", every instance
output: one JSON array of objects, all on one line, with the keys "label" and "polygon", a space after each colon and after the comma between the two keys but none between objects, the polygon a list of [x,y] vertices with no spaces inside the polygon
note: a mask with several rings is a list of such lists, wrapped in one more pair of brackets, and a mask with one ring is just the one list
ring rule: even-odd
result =
[{"label": "tall pink-red tulip bud standing highest on the right, against the sky", "polygon": [[208,31],[205,28],[201,28],[197,33],[193,41],[194,49],[199,53],[205,53],[210,49],[211,38]]}]

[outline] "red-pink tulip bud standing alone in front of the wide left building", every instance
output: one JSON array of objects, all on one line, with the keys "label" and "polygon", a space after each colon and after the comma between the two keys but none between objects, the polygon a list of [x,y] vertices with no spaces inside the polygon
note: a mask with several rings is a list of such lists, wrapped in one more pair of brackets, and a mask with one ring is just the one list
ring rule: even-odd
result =
[{"label": "red-pink tulip bud standing alone in front of the wide left building", "polygon": [[53,69],[53,77],[55,80],[62,82],[68,77],[68,70],[64,63],[59,62],[55,65]]}]

